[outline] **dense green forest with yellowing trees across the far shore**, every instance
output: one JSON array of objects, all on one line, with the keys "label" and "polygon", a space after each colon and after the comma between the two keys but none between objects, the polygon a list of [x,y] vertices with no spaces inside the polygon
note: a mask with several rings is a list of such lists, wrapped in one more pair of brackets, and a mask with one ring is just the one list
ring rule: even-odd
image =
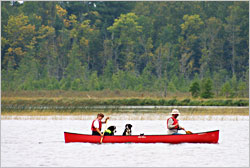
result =
[{"label": "dense green forest with yellowing trees across the far shore", "polygon": [[249,96],[249,2],[1,2],[2,91]]}]

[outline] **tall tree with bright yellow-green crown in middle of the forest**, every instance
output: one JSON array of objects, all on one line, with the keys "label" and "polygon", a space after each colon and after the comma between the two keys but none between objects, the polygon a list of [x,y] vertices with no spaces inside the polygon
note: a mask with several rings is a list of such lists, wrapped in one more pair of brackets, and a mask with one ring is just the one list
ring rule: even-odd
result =
[{"label": "tall tree with bright yellow-green crown in middle of the forest", "polygon": [[134,13],[121,14],[118,19],[115,19],[114,24],[108,27],[108,30],[114,39],[116,67],[123,70],[135,70],[137,58],[134,47],[142,31],[142,26],[138,24],[138,16]]}]

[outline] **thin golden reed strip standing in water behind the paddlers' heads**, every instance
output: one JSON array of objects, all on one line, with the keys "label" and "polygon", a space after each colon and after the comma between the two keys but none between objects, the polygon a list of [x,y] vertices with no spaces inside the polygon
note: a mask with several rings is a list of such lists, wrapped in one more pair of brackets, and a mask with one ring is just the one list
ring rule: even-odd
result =
[{"label": "thin golden reed strip standing in water behind the paddlers' heads", "polygon": [[[248,108],[215,108],[215,109],[201,109],[201,108],[183,108],[179,109],[181,116],[194,116],[194,115],[249,115]],[[98,113],[104,113],[105,115],[143,115],[149,114],[154,117],[154,115],[169,115],[171,109],[85,109],[83,110],[10,110],[2,111],[2,116],[52,116],[52,115],[71,115],[71,116],[88,116],[96,115]]]}]

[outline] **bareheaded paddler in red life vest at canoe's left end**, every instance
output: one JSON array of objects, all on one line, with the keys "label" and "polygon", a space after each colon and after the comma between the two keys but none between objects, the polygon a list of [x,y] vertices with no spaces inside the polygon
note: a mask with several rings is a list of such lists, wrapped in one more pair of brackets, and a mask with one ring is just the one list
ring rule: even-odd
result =
[{"label": "bareheaded paddler in red life vest at canoe's left end", "polygon": [[[109,117],[105,119],[105,122],[102,122],[104,115],[102,113],[97,114],[97,118],[93,120],[91,124],[92,135],[100,135],[103,136],[104,134],[101,133],[102,124],[106,124]],[[105,130],[104,130],[105,131]]]}]

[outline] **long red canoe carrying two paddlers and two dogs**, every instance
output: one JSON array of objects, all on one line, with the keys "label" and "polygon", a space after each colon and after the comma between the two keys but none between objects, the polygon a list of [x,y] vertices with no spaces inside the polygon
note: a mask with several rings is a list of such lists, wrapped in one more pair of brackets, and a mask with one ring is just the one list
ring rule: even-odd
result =
[{"label": "long red canoe carrying two paddlers and two dogs", "polygon": [[[101,137],[64,132],[65,143],[100,143]],[[104,136],[103,143],[218,143],[219,130],[184,135],[132,135]]]}]

